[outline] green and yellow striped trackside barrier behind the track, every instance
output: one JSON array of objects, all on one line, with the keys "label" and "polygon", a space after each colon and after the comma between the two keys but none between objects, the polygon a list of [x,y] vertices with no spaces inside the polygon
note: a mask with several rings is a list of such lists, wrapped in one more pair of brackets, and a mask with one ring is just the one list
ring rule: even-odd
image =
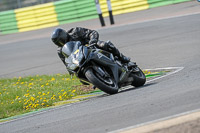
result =
[{"label": "green and yellow striped trackside barrier behind the track", "polygon": [[[106,0],[99,0],[104,17],[109,16]],[[111,0],[113,15],[176,4],[191,0]],[[95,0],[60,0],[0,12],[0,34],[25,32],[98,18]]]}]

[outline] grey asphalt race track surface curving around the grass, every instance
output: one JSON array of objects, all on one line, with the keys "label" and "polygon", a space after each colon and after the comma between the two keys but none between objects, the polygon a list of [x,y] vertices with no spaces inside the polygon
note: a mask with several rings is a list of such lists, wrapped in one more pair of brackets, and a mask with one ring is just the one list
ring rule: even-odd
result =
[{"label": "grey asphalt race track surface curving around the grass", "polygon": [[[176,6],[182,8],[183,5]],[[170,6],[163,8],[171,9]],[[101,40],[111,40],[142,69],[184,69],[139,89],[130,88],[116,95],[64,105],[1,123],[0,133],[102,133],[199,109],[199,18],[200,13],[185,14],[98,29]],[[1,36],[0,76],[64,73],[56,47],[48,37],[52,30]]]}]

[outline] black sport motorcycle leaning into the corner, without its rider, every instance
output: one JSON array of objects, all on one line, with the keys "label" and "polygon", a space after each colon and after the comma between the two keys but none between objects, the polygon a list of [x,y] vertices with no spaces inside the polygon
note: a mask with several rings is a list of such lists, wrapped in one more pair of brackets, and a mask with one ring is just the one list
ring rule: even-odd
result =
[{"label": "black sport motorcycle leaning into the corner, without its rider", "polygon": [[98,49],[95,44],[81,45],[79,41],[66,43],[62,48],[67,69],[82,83],[92,83],[108,94],[116,94],[119,88],[143,86],[146,77],[135,63],[122,63],[112,53]]}]

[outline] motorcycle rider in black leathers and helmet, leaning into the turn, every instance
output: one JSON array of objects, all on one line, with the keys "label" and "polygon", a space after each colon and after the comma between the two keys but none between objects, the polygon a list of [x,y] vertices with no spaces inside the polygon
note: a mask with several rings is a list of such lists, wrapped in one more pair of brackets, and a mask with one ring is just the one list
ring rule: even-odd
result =
[{"label": "motorcycle rider in black leathers and helmet, leaning into the turn", "polygon": [[80,41],[82,45],[96,44],[97,48],[111,52],[114,56],[117,56],[123,63],[129,63],[130,58],[124,56],[119,50],[110,42],[100,41],[99,33],[95,30],[90,30],[82,27],[71,28],[68,31],[57,28],[52,34],[52,41],[58,46],[58,56],[65,63],[65,57],[62,54],[62,47],[69,41]]}]

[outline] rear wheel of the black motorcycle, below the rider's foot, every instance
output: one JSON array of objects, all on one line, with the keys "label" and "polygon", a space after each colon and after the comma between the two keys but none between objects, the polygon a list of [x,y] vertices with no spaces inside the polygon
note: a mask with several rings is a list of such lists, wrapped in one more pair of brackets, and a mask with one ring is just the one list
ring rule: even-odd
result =
[{"label": "rear wheel of the black motorcycle, below the rider's foot", "polygon": [[146,82],[145,74],[142,72],[142,70],[139,67],[134,68],[135,71],[131,73],[131,76],[133,77],[132,86],[140,87],[143,86]]}]

